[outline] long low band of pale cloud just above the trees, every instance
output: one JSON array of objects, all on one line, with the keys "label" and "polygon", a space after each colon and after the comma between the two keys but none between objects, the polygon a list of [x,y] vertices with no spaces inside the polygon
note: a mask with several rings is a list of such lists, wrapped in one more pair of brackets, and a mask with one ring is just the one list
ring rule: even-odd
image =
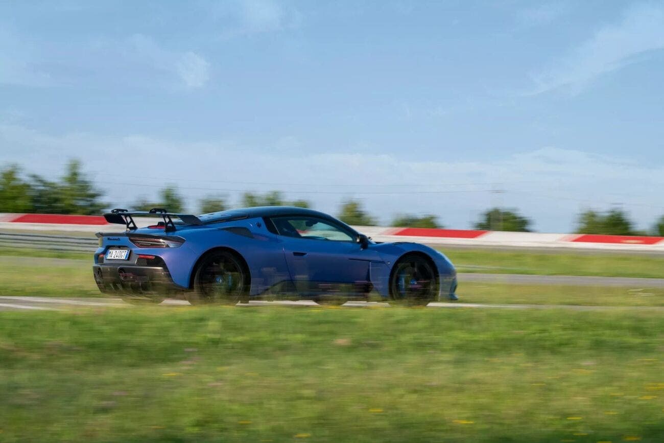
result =
[{"label": "long low band of pale cloud just above the trees", "polygon": [[[274,145],[281,143],[284,140]],[[290,199],[312,201],[321,211],[335,213],[340,201],[355,197],[383,222],[395,213],[434,213],[456,228],[469,227],[491,205],[517,207],[537,222],[537,229],[554,232],[572,228],[574,216],[588,206],[606,209],[623,203],[643,228],[664,211],[657,206],[664,167],[629,159],[544,147],[493,161],[445,161],[351,148],[316,153],[291,137],[285,143],[300,149],[264,149],[229,140],[179,143],[145,135],[52,135],[0,124],[0,165],[16,162],[55,177],[66,159],[78,157],[112,204],[131,203],[138,196],[155,195],[164,183],[177,183],[192,211],[207,194],[227,193],[237,201],[241,191],[271,189],[286,192]],[[114,159],[124,160],[113,165]],[[120,176],[114,173],[117,167],[122,167]],[[164,179],[163,173],[173,178]],[[497,197],[491,193],[496,187],[507,192]],[[381,194],[392,191],[401,194]]]}]

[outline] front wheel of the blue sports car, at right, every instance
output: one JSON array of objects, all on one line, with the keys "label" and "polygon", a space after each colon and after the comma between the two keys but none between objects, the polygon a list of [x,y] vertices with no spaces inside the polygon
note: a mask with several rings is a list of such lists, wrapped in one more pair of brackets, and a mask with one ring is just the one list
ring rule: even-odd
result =
[{"label": "front wheel of the blue sports car, at right", "polygon": [[438,272],[424,256],[407,254],[394,264],[390,300],[407,306],[426,306],[438,296]]}]

